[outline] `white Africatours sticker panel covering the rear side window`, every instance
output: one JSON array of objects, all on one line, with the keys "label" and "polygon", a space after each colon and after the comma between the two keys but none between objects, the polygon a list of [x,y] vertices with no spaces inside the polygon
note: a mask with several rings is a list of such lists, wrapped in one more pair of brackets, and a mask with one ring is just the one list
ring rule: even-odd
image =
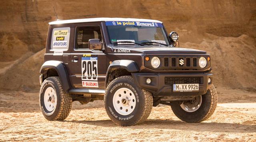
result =
[{"label": "white Africatours sticker panel covering the rear side window", "polygon": [[69,45],[70,27],[60,27],[52,29],[51,49],[67,51]]}]

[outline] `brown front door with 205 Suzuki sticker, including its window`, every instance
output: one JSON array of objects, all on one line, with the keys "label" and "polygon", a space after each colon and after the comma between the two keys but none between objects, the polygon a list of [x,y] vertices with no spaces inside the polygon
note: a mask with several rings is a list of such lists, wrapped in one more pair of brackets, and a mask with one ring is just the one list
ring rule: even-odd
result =
[{"label": "brown front door with 205 Suzuki sticker, including its window", "polygon": [[69,55],[71,85],[73,88],[104,89],[106,54],[102,50],[91,50],[88,46],[89,39],[104,40],[101,24],[75,23],[74,28],[74,49]]}]

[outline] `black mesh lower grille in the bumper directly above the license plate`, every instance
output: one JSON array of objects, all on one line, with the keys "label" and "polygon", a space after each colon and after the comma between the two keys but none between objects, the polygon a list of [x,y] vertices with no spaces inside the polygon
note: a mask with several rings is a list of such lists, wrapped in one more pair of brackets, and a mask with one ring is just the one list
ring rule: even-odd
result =
[{"label": "black mesh lower grille in the bumper directly above the license plate", "polygon": [[201,84],[202,77],[165,77],[164,84]]}]

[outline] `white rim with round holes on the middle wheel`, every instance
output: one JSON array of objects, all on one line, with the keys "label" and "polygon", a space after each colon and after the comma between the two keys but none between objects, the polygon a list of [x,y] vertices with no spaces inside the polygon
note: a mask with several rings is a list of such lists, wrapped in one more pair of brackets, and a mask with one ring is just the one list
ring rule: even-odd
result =
[{"label": "white rim with round holes on the middle wheel", "polygon": [[118,89],[113,96],[114,109],[120,115],[129,115],[134,111],[136,98],[128,88]]}]

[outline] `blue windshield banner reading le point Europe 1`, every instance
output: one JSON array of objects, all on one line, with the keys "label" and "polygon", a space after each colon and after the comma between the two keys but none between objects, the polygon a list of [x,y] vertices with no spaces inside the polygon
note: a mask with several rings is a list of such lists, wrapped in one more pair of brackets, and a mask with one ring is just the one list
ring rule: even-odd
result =
[{"label": "blue windshield banner reading le point Europe 1", "polygon": [[106,21],[106,25],[134,25],[146,27],[163,27],[162,23],[138,22],[138,21]]}]

